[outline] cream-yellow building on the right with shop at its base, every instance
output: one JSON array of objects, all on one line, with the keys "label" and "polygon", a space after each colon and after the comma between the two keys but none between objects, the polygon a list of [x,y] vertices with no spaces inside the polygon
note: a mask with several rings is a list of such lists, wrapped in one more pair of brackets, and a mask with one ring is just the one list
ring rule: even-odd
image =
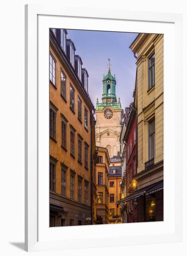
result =
[{"label": "cream-yellow building on the right with shop at its base", "polygon": [[[130,46],[137,58],[137,221],[163,221],[163,35],[139,34]],[[134,183],[135,184],[135,183]]]}]

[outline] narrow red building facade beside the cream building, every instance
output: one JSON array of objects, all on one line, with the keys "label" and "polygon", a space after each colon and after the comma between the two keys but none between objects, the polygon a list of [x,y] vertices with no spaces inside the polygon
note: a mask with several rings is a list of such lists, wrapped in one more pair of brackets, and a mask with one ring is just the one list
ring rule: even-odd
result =
[{"label": "narrow red building facade beside the cream building", "polygon": [[[130,104],[124,141],[127,147],[127,196],[134,192],[134,175],[137,170],[137,117],[133,103]],[[137,222],[137,199],[127,203],[127,222]]]}]

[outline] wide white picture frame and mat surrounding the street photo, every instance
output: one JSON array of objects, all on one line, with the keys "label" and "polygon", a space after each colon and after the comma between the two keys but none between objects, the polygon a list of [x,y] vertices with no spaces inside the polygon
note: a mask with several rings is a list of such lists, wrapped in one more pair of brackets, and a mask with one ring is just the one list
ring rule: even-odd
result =
[{"label": "wide white picture frame and mat surrounding the street photo", "polygon": [[[87,22],[84,22],[85,20]],[[46,86],[48,84],[46,72],[48,72],[49,40],[47,36],[49,33],[47,34],[47,31],[49,27],[60,26],[74,29],[107,31],[110,28],[111,31],[165,34],[164,222],[52,229],[48,227],[49,189],[47,190],[47,185],[49,183],[47,172],[45,172],[49,157],[47,146],[49,99]],[[181,15],[129,12],[123,9],[114,12],[112,7],[79,9],[54,5],[26,5],[25,28],[25,249],[39,251],[181,241],[182,197],[178,196],[182,195],[182,163],[180,161],[182,120],[178,115],[182,99]],[[177,125],[176,121],[171,125],[170,120],[174,116],[178,116]]]}]

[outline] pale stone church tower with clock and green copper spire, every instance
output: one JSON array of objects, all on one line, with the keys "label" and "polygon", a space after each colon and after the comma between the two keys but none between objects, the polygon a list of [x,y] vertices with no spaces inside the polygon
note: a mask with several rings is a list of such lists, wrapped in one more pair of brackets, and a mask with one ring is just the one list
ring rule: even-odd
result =
[{"label": "pale stone church tower with clock and green copper spire", "polygon": [[103,77],[102,102],[96,103],[96,146],[108,149],[110,157],[120,154],[120,131],[123,109],[116,98],[115,75],[111,74],[108,59],[108,74]]}]

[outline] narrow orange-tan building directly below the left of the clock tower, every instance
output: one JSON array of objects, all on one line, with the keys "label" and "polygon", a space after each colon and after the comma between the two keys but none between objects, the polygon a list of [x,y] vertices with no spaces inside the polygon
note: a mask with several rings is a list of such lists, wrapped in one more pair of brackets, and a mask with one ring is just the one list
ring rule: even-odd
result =
[{"label": "narrow orange-tan building directly below the left of the clock tower", "polygon": [[98,163],[96,164],[97,177],[97,224],[108,223],[108,169],[110,157],[107,148],[97,147]]}]

